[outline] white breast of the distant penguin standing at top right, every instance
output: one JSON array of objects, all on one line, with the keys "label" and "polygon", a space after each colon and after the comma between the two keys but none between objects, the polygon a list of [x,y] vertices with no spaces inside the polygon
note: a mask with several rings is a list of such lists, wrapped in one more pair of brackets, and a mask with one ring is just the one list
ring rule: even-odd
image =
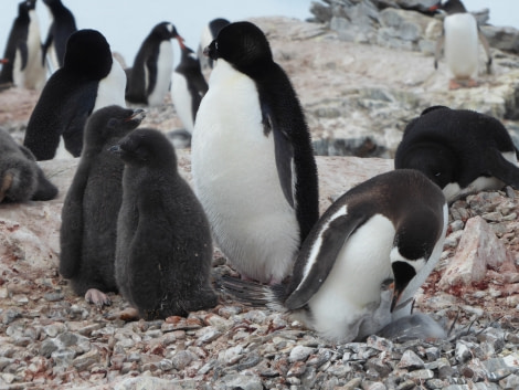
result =
[{"label": "white breast of the distant penguin standing at top right", "polygon": [[470,13],[455,13],[445,18],[445,61],[456,78],[469,78],[478,70],[478,32]]}]

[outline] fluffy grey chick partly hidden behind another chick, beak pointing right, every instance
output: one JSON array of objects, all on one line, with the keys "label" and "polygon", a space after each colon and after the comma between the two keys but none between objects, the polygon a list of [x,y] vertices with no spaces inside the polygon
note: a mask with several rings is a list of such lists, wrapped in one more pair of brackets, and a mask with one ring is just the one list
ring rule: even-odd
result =
[{"label": "fluffy grey chick partly hidden behind another chick, beak pointing right", "polygon": [[109,148],[139,126],[142,109],[108,106],[87,120],[80,165],[66,193],[60,230],[60,273],[98,306],[117,292],[115,249],[125,165]]}]

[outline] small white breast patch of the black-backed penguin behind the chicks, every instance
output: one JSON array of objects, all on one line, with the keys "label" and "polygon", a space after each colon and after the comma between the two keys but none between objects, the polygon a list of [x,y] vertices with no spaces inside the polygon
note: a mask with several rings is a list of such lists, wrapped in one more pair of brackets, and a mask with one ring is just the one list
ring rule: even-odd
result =
[{"label": "small white breast patch of the black-backed penguin behind the chicks", "polygon": [[112,68],[105,78],[99,81],[94,112],[110,105],[126,107],[126,73],[119,62],[113,57]]}]

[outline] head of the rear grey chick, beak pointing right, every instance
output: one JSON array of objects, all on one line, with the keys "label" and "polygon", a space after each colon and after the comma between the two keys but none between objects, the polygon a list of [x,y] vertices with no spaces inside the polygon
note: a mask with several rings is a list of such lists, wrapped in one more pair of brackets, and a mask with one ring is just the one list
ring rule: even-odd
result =
[{"label": "head of the rear grey chick, beak pointing right", "polygon": [[85,144],[104,144],[110,137],[124,137],[137,128],[145,117],[145,110],[140,108],[129,109],[114,105],[97,109],[86,123]]}]

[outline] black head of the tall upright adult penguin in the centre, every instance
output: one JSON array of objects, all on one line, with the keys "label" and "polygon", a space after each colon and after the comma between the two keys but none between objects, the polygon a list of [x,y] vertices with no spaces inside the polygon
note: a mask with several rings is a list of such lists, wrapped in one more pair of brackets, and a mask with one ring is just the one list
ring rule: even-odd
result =
[{"label": "black head of the tall upright adult penguin in the centre", "polygon": [[225,60],[245,74],[255,73],[273,62],[271,45],[265,34],[251,22],[236,22],[224,27],[203,53],[214,61]]}]

